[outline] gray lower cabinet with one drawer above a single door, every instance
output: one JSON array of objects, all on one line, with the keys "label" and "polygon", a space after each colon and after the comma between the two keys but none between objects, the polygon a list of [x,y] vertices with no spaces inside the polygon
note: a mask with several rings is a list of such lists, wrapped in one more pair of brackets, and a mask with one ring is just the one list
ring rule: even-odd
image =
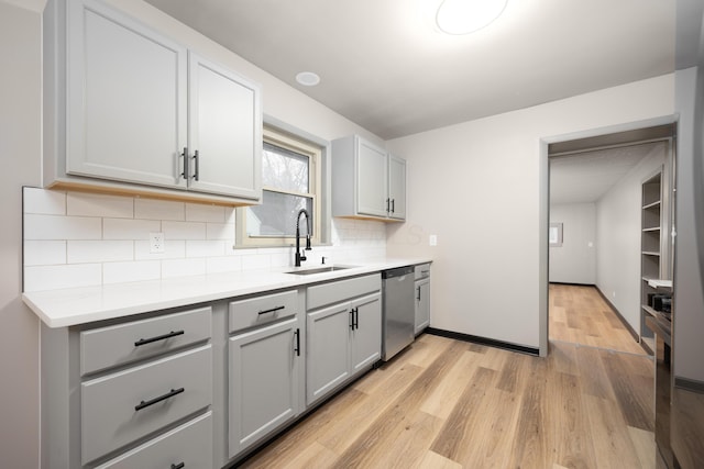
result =
[{"label": "gray lower cabinet with one drawer above a single door", "polygon": [[229,339],[230,458],[302,411],[297,294],[288,291],[230,303],[230,328],[235,328]]}]

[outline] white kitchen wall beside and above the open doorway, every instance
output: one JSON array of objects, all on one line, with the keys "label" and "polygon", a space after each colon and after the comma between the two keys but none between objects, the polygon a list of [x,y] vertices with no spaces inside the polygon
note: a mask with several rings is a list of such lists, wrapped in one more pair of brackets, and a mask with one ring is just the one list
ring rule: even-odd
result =
[{"label": "white kitchen wall beside and above the open doorway", "polygon": [[411,189],[386,250],[435,258],[431,326],[538,348],[541,138],[671,115],[673,96],[668,75],[387,142],[407,158]]}]

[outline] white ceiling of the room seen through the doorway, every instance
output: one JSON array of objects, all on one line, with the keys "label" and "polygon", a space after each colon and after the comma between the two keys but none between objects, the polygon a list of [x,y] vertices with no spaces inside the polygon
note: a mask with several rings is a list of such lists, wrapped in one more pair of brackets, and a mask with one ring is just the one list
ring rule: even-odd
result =
[{"label": "white ceiling of the room seen through the doorway", "polygon": [[662,142],[550,158],[550,204],[596,202]]}]

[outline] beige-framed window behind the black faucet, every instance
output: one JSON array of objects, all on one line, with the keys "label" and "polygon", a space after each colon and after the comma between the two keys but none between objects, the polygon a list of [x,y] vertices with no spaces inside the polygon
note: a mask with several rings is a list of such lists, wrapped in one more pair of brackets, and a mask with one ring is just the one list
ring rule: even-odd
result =
[{"label": "beige-framed window behind the black faucet", "polygon": [[[300,209],[310,214],[312,242],[320,243],[321,148],[278,130],[264,127],[262,204],[238,210],[238,246],[295,243]],[[300,222],[306,233],[305,217]]]}]

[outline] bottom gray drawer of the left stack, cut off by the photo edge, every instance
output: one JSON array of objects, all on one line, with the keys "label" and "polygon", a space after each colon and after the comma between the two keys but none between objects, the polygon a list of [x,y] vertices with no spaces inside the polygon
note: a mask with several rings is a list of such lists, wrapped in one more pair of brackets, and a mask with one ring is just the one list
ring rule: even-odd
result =
[{"label": "bottom gray drawer of the left stack, cut off by the photo edge", "polygon": [[189,421],[96,469],[211,468],[212,412]]}]

